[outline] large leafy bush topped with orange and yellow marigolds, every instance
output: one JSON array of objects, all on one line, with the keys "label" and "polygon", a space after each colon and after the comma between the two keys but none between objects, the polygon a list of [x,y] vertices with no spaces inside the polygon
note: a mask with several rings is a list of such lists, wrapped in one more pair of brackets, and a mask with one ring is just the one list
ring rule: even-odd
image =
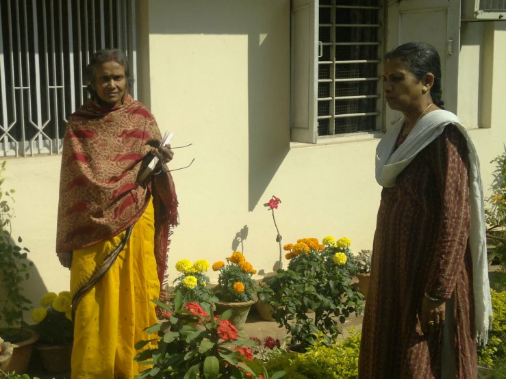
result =
[{"label": "large leafy bush topped with orange and yellow marigolds", "polygon": [[[340,239],[340,244],[331,244],[328,237],[324,241],[326,246],[305,238],[290,246],[288,269],[278,270],[260,293],[273,306],[276,322],[288,330],[290,349],[296,352],[305,352],[318,335],[331,345],[351,313],[363,311],[362,293],[351,285],[356,268],[349,239]],[[310,310],[312,317],[307,315]]]}]

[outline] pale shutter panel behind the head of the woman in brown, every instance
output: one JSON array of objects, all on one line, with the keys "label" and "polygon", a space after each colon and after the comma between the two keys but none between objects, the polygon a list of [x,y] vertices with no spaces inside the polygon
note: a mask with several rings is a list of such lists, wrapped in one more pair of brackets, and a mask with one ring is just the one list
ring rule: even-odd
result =
[{"label": "pale shutter panel behind the head of the woman in brown", "polygon": [[[441,57],[445,108],[457,112],[460,0],[403,0],[388,8],[388,50],[413,41],[427,42]],[[387,127],[402,115],[387,107]]]}]

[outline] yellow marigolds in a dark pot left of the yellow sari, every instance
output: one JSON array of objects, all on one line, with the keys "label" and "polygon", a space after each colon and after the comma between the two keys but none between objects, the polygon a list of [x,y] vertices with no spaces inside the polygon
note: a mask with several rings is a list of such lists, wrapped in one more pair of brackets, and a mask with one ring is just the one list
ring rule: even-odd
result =
[{"label": "yellow marigolds in a dark pot left of the yellow sari", "polygon": [[31,318],[38,324],[40,339],[36,349],[42,366],[52,374],[71,369],[74,324],[72,322],[71,293],[46,293],[40,308],[34,309]]}]

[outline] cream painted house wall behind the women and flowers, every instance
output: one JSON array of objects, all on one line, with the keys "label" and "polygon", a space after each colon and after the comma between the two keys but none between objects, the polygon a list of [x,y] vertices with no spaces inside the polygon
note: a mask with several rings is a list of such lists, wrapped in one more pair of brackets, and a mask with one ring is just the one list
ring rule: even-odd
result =
[{"label": "cream painted house wall behind the women and flowers", "polygon": [[[362,136],[290,146],[289,3],[140,1],[145,12],[140,19],[148,24],[139,28],[147,41],[139,59],[149,64],[139,76],[140,96],[151,98],[160,129],[175,132],[173,146],[192,143],[176,151],[171,168],[195,158],[190,168],[173,173],[181,225],[170,250],[171,278],[183,257],[225,258],[244,225],[249,226],[244,246],[249,261],[257,270],[273,270],[279,257],[276,232],[263,207],[272,195],[283,201],[277,211],[283,243],[331,234],[350,237],[355,251],[372,248],[381,192],[374,179],[378,140]],[[492,179],[489,162],[506,142],[503,25],[494,23],[492,53],[484,57],[495,62],[492,127],[471,131],[485,189]],[[473,98],[470,90],[487,90],[476,75],[483,59],[475,37],[463,42],[466,57],[460,60],[461,78],[472,78],[459,81],[459,113],[464,118],[461,109],[469,111],[468,120],[479,119],[470,112],[478,112],[479,94]],[[68,289],[68,270],[54,253],[59,171],[58,156],[8,161],[5,187],[16,189],[14,237],[23,237],[36,266],[27,285],[33,299],[46,289]]]}]

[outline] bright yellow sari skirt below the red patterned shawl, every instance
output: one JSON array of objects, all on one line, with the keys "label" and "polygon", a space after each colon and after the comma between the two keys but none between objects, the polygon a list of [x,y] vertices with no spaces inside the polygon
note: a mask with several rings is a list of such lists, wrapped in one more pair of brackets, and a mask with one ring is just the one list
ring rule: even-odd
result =
[{"label": "bright yellow sari skirt below the red patterned shawl", "polygon": [[[160,293],[154,236],[154,209],[150,202],[114,265],[77,305],[72,379],[132,379],[148,368],[134,362],[138,353],[134,345],[148,339],[144,328],[157,323],[155,304],[151,302]],[[125,232],[74,250],[73,292],[123,237]]]}]

